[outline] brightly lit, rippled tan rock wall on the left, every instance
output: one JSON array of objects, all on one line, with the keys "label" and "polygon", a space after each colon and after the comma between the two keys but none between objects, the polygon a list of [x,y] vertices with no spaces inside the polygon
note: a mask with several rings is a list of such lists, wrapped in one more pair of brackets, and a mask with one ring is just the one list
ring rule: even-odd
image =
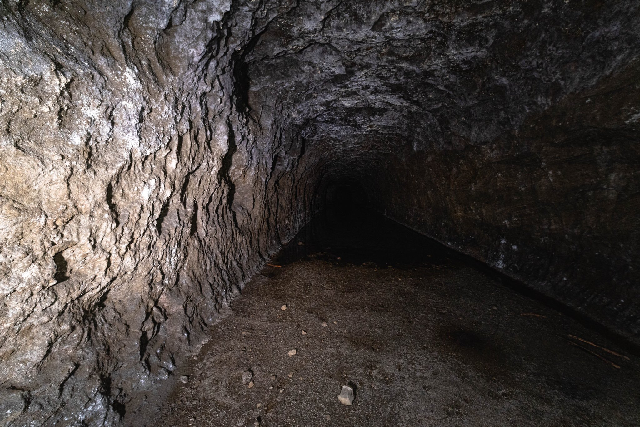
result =
[{"label": "brightly lit, rippled tan rock wall on the left", "polygon": [[0,3],[0,419],[113,425],[310,212],[255,2]]}]

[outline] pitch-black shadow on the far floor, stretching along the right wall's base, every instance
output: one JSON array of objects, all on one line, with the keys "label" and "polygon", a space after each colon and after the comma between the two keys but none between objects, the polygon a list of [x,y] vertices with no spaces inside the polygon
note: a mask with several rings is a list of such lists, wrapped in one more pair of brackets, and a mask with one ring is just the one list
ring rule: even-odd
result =
[{"label": "pitch-black shadow on the far floor, stretching along the right wall's base", "polygon": [[[632,341],[576,309],[381,215],[367,203],[364,190],[357,184],[329,187],[325,201],[324,209],[282,247],[274,263],[287,265],[310,257],[336,265],[350,263],[379,269],[411,270],[428,265],[452,270],[470,267],[524,297],[566,314],[625,351],[640,355],[640,348]],[[455,300],[456,295],[451,297]]]}]

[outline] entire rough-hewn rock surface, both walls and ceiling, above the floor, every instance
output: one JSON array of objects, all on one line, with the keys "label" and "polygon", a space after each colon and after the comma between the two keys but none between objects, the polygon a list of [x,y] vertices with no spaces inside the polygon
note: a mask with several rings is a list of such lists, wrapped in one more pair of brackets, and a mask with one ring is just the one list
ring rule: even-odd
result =
[{"label": "entire rough-hewn rock surface, both walls and ceiling, above the floor", "polygon": [[340,182],[637,340],[638,16],[1,1],[1,422],[122,423]]}]

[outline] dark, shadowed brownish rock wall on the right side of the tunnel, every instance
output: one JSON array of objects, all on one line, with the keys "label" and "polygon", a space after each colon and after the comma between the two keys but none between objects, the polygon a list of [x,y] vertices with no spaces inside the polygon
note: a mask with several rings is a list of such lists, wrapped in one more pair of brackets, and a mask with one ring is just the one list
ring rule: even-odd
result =
[{"label": "dark, shadowed brownish rock wall on the right side of the tunnel", "polygon": [[489,146],[388,159],[371,197],[388,217],[637,342],[637,70],[569,95]]}]

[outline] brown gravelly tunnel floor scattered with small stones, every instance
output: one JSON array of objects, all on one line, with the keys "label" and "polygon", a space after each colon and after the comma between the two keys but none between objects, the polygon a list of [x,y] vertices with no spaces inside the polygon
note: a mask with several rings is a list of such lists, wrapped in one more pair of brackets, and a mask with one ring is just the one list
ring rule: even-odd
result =
[{"label": "brown gravelly tunnel floor scattered with small stones", "polygon": [[247,284],[141,424],[640,425],[633,348],[377,214],[338,217]]}]

